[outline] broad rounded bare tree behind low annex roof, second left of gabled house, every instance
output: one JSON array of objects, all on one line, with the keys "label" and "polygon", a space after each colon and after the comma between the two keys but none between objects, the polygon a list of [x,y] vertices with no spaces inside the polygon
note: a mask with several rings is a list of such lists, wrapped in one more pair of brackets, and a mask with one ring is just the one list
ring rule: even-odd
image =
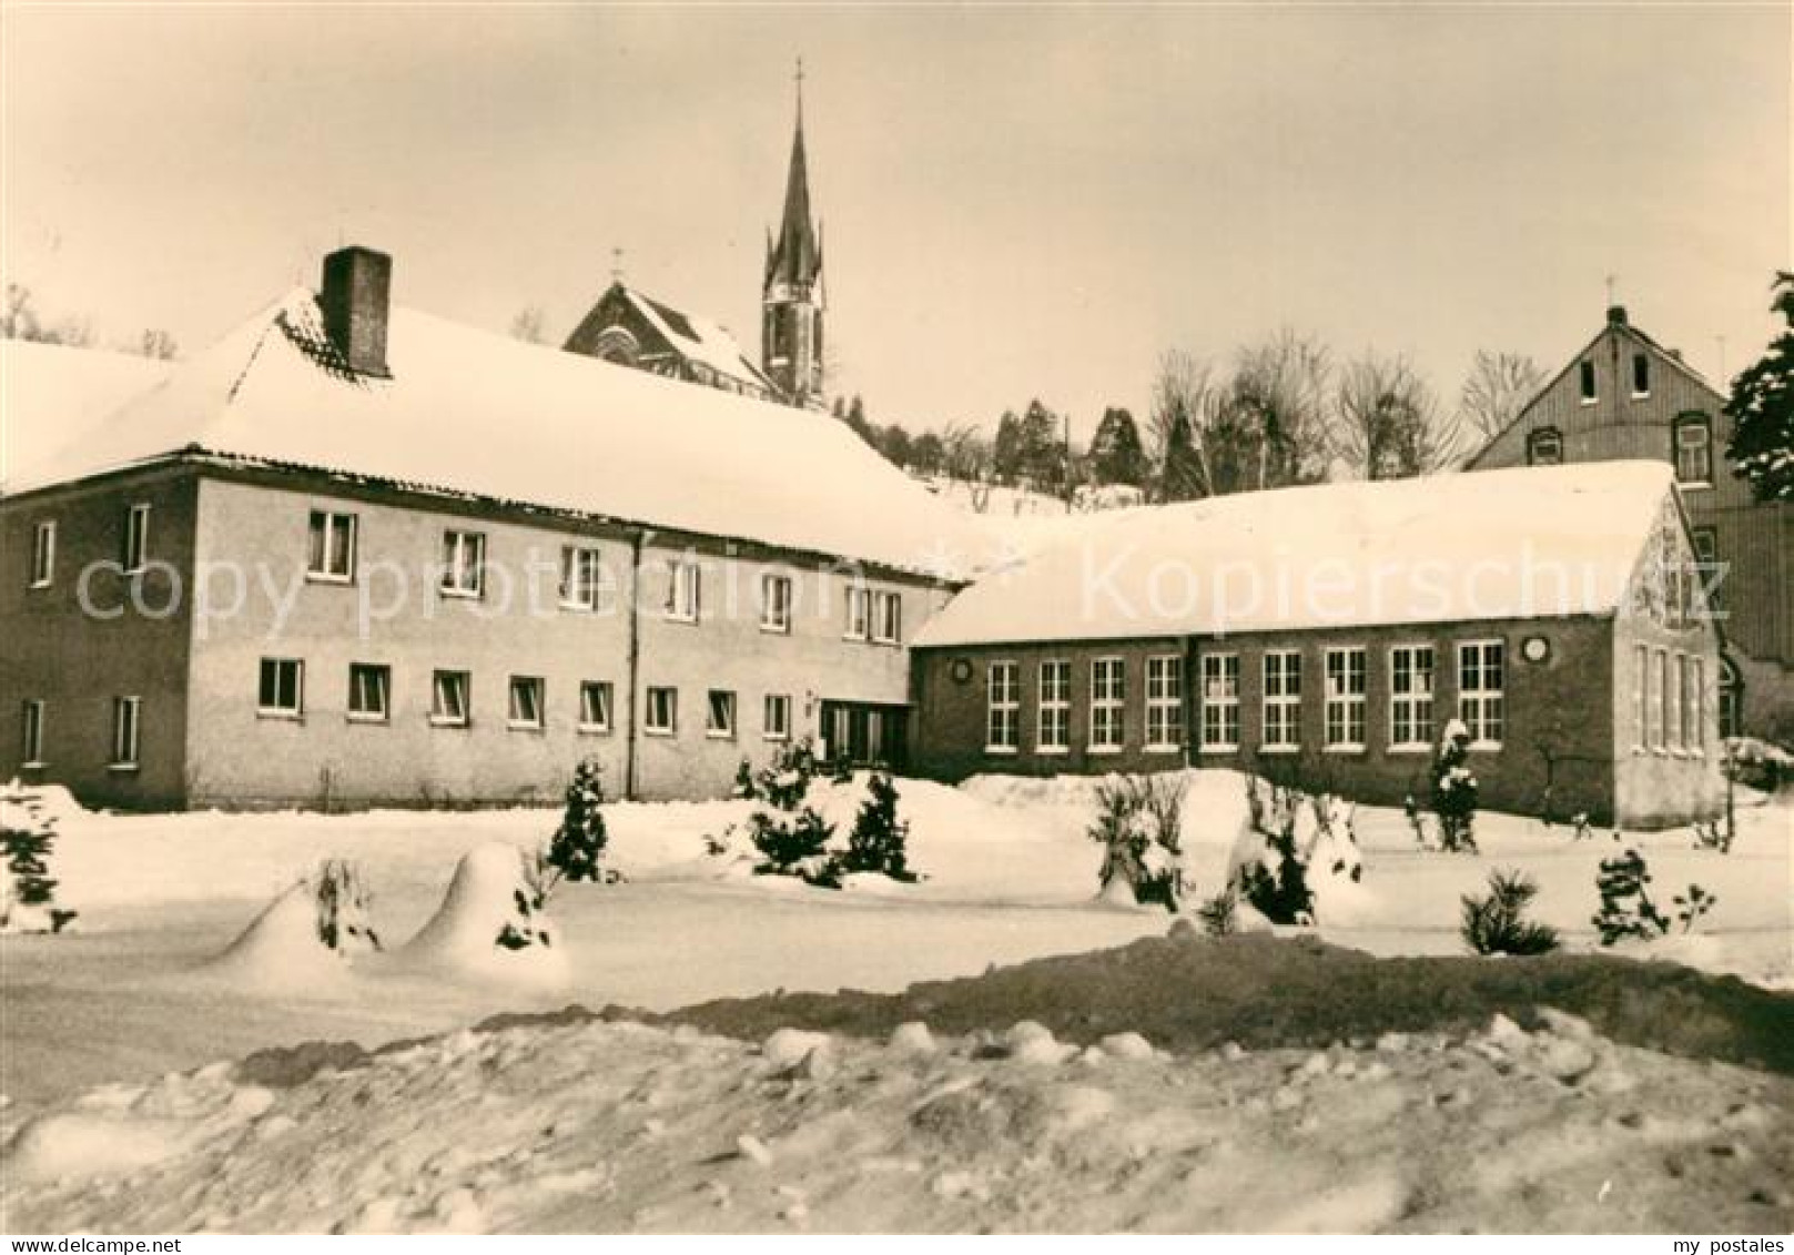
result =
[{"label": "broad rounded bare tree behind low annex roof, second left of gabled house", "polygon": [[1464,422],[1439,406],[1405,357],[1369,350],[1333,391],[1333,458],[1354,479],[1433,474],[1466,452]]}]

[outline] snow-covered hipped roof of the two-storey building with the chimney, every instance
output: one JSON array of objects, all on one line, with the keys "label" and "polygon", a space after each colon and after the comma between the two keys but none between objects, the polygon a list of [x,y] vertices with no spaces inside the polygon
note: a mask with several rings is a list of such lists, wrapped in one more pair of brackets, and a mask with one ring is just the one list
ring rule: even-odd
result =
[{"label": "snow-covered hipped roof of the two-storey building with the chimney", "polygon": [[[827,415],[393,307],[391,379],[341,370],[316,298],[179,363],[14,490],[212,452],[945,573],[969,521]],[[30,422],[56,422],[32,413]]]}]

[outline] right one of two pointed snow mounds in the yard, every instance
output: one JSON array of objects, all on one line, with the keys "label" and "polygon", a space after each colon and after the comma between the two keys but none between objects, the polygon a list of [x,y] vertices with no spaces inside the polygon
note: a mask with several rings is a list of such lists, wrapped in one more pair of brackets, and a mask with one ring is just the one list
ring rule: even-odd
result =
[{"label": "right one of two pointed snow mounds in the yard", "polygon": [[527,919],[540,944],[508,948],[499,935],[522,921],[531,889],[517,846],[486,842],[461,856],[443,905],[398,952],[400,966],[483,982],[560,986],[570,977],[558,932],[540,912]]}]

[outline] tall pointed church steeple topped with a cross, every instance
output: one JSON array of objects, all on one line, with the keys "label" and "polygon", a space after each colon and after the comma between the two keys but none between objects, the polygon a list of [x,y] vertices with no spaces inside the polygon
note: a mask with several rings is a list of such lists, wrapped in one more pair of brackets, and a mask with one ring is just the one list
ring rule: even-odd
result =
[{"label": "tall pointed church steeple topped with a cross", "polygon": [[822,404],[822,230],[809,210],[804,151],[804,59],[797,63],[797,129],[779,233],[766,232],[761,370],[793,406]]}]

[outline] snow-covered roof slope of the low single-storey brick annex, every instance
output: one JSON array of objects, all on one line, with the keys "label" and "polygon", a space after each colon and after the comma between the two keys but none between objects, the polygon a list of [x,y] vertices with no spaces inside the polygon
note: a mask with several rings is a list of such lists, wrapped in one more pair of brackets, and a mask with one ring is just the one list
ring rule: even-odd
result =
[{"label": "snow-covered roof slope of the low single-storey brick annex", "polygon": [[1085,515],[915,645],[1607,614],[1672,492],[1661,461],[1600,461]]}]

